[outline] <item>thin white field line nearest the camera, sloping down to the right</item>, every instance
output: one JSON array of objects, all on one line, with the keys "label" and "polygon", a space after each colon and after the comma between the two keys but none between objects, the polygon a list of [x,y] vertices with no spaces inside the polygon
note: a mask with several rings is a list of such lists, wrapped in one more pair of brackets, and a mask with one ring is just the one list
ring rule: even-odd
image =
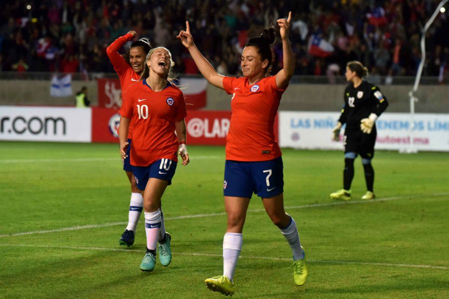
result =
[{"label": "thin white field line nearest the camera, sloping down to the right", "polygon": [[[115,252],[132,252],[142,254],[143,250],[138,249],[120,249],[120,248],[104,248],[104,247],[75,247],[75,246],[53,246],[53,245],[33,245],[33,244],[1,244],[3,247],[30,247],[30,248],[55,248],[55,249],[74,249],[74,250],[90,250],[90,251],[115,251]],[[217,257],[222,258],[219,254],[210,253],[175,253],[180,256],[203,256],[203,257]],[[274,258],[274,257],[257,257],[257,256],[240,256],[240,259],[251,260],[270,260],[270,261],[286,261],[291,262],[291,258]],[[401,268],[425,268],[425,269],[443,269],[448,270],[449,267],[445,266],[432,266],[432,265],[413,265],[413,264],[393,264],[393,263],[371,263],[371,262],[357,262],[357,261],[328,261],[328,260],[307,260],[314,264],[351,264],[351,265],[368,265],[368,266],[388,266],[388,267],[401,267]]]}]

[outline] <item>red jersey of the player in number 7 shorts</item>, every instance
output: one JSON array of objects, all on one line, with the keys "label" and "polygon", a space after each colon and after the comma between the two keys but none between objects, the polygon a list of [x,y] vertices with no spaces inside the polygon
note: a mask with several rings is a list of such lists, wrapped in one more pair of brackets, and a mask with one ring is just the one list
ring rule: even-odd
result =
[{"label": "red jersey of the player in number 7 shorts", "polygon": [[274,118],[285,89],[276,86],[275,76],[249,85],[248,78],[223,78],[232,95],[231,120],[226,137],[226,160],[266,161],[282,153],[274,140]]}]

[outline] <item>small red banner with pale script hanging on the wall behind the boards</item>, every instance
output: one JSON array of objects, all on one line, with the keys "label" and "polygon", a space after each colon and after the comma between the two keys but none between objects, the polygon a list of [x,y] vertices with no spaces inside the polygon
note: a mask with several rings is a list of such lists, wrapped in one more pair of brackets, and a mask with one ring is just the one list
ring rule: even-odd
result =
[{"label": "small red banner with pale script hanging on the wall behind the boards", "polygon": [[119,79],[97,79],[98,107],[120,109],[122,106],[122,90]]}]

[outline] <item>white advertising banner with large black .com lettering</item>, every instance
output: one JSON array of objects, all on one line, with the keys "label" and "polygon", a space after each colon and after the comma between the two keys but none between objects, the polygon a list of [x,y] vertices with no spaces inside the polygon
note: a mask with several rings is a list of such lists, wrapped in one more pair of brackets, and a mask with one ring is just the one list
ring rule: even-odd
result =
[{"label": "white advertising banner with large black .com lettering", "polygon": [[0,106],[0,140],[91,142],[90,108]]}]

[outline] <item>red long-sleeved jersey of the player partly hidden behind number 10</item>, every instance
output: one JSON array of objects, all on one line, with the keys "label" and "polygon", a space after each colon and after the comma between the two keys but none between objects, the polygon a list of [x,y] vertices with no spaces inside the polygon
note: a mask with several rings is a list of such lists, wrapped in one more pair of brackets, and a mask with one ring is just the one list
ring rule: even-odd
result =
[{"label": "red long-sleeved jersey of the player partly hidden behind number 10", "polygon": [[[132,84],[140,80],[140,76],[133,70],[129,63],[119,54],[118,50],[127,42],[133,39],[130,33],[120,36],[106,49],[109,60],[114,67],[115,72],[120,79],[120,87],[122,93]],[[123,98],[122,98],[123,101]],[[132,138],[132,132],[134,128],[134,123],[131,121],[129,125],[128,138]]]}]

